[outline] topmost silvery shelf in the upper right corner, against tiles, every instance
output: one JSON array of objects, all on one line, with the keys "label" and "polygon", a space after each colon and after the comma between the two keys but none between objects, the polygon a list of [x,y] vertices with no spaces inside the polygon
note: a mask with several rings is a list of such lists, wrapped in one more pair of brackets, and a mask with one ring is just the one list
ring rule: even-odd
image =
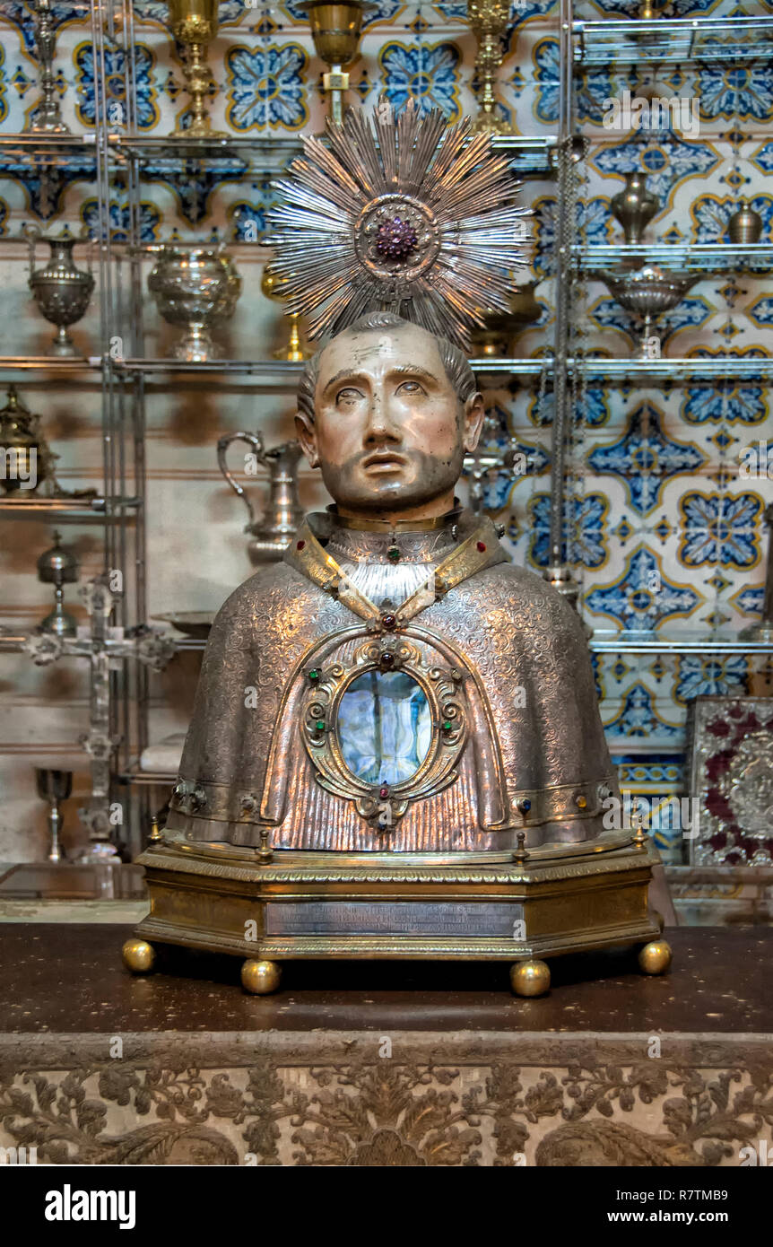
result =
[{"label": "topmost silvery shelf in the upper right corner, against tiles", "polygon": [[652,21],[575,21],[575,66],[726,61],[773,57],[773,16],[655,17]]}]

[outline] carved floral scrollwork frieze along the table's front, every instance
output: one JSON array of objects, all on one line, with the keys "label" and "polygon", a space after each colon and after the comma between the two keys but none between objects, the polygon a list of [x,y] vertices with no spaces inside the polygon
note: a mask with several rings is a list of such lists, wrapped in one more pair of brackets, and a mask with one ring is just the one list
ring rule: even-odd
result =
[{"label": "carved floral scrollwork frieze along the table's front", "polygon": [[[54,1165],[652,1167],[738,1165],[742,1146],[772,1139],[773,1069],[753,1040],[672,1040],[673,1055],[647,1060],[643,1036],[575,1039],[557,1062],[536,1040],[517,1059],[464,1035],[393,1042],[393,1057],[362,1034],[312,1052],[290,1034],[207,1067],[168,1051],[64,1071],[4,1060],[0,1146]],[[217,1036],[198,1046],[216,1055]]]}]

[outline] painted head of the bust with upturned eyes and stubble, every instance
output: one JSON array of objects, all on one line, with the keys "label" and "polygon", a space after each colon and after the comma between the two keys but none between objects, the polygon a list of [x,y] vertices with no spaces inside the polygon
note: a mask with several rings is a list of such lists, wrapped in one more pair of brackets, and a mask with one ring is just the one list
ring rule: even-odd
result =
[{"label": "painted head of the bust with upturned eyes and stubble", "polygon": [[464,352],[389,312],[332,338],[298,387],[298,439],[348,516],[423,520],[451,510],[483,419]]}]

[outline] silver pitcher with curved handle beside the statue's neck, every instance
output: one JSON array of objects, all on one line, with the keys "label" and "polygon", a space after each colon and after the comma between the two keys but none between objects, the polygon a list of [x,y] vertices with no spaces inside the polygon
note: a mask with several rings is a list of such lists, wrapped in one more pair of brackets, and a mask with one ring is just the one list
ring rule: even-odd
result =
[{"label": "silver pitcher with curved handle beside the statue's neck", "polygon": [[[237,480],[228,471],[226,453],[232,441],[246,441],[252,446],[252,461],[268,470],[268,505],[259,521],[256,521],[252,503]],[[217,443],[217,461],[219,469],[234,494],[244,503],[249,522],[244,532],[252,541],[247,554],[253,566],[282,557],[284,549],[297,531],[303,510],[298,499],[298,460],[303,451],[297,441],[284,441],[281,446],[267,450],[259,433],[227,433]]]}]

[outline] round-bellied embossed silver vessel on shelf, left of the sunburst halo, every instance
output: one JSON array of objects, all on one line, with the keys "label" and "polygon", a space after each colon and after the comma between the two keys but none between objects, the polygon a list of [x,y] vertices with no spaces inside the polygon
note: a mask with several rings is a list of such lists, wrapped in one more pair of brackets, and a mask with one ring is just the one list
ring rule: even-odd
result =
[{"label": "round-bellied embossed silver vessel on shelf, left of the sunburst halo", "polygon": [[233,315],[242,293],[242,278],[223,244],[168,242],[145,249],[158,254],[147,279],[158,311],[185,329],[168,357],[188,363],[218,359],[222,352],[209,330]]}]

